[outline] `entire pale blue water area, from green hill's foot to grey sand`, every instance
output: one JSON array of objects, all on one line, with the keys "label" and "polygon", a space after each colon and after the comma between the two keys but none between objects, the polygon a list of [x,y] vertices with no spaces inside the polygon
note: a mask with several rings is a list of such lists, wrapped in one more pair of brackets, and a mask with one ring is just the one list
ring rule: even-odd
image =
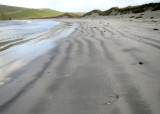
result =
[{"label": "entire pale blue water area, from green hill's foot to grey sand", "polygon": [[55,21],[0,22],[0,86],[11,80],[12,72],[45,54],[74,29]]}]

